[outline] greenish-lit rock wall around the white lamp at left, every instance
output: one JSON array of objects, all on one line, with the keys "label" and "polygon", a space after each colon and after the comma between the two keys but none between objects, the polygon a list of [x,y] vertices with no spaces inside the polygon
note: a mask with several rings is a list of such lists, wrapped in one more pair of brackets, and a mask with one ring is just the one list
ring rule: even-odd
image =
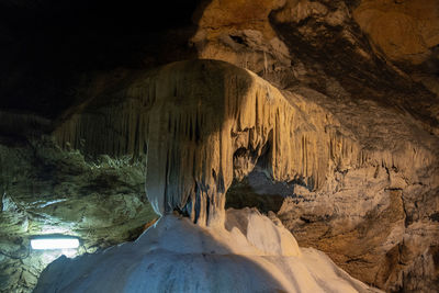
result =
[{"label": "greenish-lit rock wall around the white lamp at left", "polygon": [[[0,144],[0,292],[30,292],[63,252],[93,252],[136,238],[156,215],[144,195],[143,161],[85,160],[48,139]],[[36,251],[36,235],[78,236],[78,251]]]}]

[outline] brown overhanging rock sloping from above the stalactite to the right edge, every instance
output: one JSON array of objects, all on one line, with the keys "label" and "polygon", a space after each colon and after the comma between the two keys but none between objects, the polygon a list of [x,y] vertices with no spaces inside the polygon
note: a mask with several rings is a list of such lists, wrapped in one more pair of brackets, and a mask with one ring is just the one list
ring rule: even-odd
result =
[{"label": "brown overhanging rock sloping from above the stalactite to the right edge", "polygon": [[[222,13],[229,9],[221,7]],[[318,97],[317,103],[340,115],[361,115],[374,106],[370,103],[376,103],[397,112],[407,111],[428,132],[439,133],[437,94],[376,54],[352,18],[357,8],[352,2],[290,0],[280,8],[266,7],[271,12],[257,13],[260,19],[256,23],[243,20],[244,24],[203,25],[211,18],[204,21],[201,16],[192,38],[199,56],[248,68],[282,89],[312,88],[329,98],[319,101],[323,98]],[[209,10],[214,8],[215,1],[206,5],[203,15],[210,15]],[[270,30],[261,29],[261,23]],[[435,56],[428,58],[429,76],[438,72],[437,53]],[[413,97],[416,102],[410,102]],[[342,104],[364,109],[346,111],[340,109]]]}]

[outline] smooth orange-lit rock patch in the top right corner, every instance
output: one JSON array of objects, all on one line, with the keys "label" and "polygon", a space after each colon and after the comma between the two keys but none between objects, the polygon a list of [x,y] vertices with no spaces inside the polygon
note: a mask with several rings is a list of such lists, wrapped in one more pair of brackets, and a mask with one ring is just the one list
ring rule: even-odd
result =
[{"label": "smooth orange-lit rock patch in the top right corner", "polygon": [[353,18],[392,60],[420,64],[439,44],[437,0],[363,0]]}]

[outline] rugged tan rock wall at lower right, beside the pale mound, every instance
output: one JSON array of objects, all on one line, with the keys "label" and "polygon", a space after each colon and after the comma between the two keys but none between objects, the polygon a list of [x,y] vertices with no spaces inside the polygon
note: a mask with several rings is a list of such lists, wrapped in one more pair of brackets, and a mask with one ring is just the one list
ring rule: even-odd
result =
[{"label": "rugged tan rock wall at lower right, beside the pale mound", "polygon": [[[330,191],[297,188],[284,201],[278,215],[300,244],[327,251],[347,271],[380,288],[435,288],[437,189],[407,183],[401,172],[380,166],[337,172],[333,181]],[[417,194],[425,202],[415,200],[415,207]]]}]

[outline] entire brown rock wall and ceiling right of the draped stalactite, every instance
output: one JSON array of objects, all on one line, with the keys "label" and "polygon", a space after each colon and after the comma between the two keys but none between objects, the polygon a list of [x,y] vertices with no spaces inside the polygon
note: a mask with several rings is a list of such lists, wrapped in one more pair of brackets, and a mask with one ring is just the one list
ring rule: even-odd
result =
[{"label": "entire brown rock wall and ceiling right of the draped stalactite", "polygon": [[[439,133],[438,83],[435,76],[419,77],[426,90],[391,64],[431,60],[437,5],[285,1],[266,5],[266,20],[256,13],[259,22],[213,26],[201,19],[192,38],[203,58],[249,68],[330,112],[373,158],[352,164],[341,156],[320,190],[295,184],[278,215],[301,245],[318,247],[349,273],[389,291],[437,286],[438,140],[429,133]],[[305,115],[312,121],[318,114]],[[426,153],[412,151],[413,144]],[[248,189],[240,188],[254,192]]]}]

